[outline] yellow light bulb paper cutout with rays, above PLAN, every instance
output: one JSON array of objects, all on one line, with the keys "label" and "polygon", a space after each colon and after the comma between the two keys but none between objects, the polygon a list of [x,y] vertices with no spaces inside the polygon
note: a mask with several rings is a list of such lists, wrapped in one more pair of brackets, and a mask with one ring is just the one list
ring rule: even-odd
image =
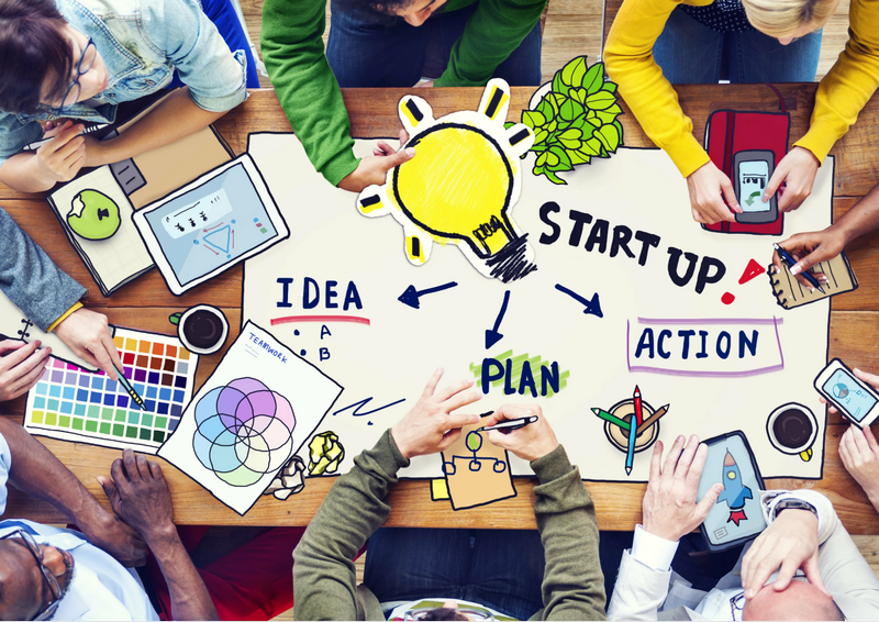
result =
[{"label": "yellow light bulb paper cutout with rays, above PLAN", "polygon": [[405,255],[420,266],[434,242],[453,243],[483,276],[503,282],[537,269],[534,249],[510,216],[522,192],[519,157],[534,144],[531,127],[504,129],[510,87],[492,79],[479,109],[433,118],[426,101],[405,96],[399,111],[415,157],[357,199],[366,216],[392,214],[405,233]]}]

